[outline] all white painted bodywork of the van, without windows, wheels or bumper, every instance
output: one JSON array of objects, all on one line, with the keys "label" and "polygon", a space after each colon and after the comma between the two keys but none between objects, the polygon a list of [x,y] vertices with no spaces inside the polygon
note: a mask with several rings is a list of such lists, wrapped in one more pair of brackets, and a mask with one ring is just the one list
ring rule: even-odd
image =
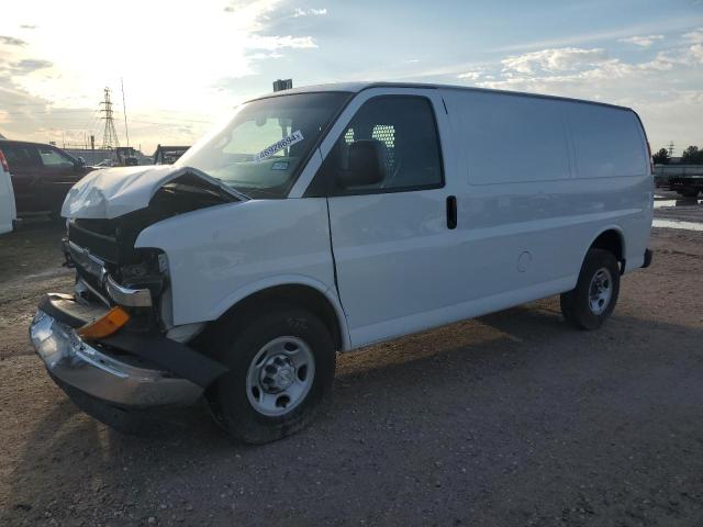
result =
[{"label": "all white painted bodywork of the van, without windows, wheels or bumper", "polygon": [[[135,247],[166,254],[172,325],[214,321],[258,291],[300,284],[334,307],[346,350],[569,291],[606,231],[621,238],[625,271],[643,265],[654,183],[631,110],[449,87],[354,89],[287,199],[211,206],[138,235]],[[429,101],[444,186],[305,197],[356,112],[380,96]],[[126,214],[180,173],[102,170],[71,191],[65,215]]]}]

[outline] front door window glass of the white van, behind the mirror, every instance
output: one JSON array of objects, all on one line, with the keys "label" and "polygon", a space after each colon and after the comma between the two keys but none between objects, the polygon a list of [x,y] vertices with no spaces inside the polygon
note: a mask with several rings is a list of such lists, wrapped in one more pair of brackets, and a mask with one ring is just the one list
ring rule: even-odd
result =
[{"label": "front door window glass of the white van, behind the mirror", "polygon": [[[383,144],[386,178],[379,183],[336,188],[356,141]],[[342,133],[313,181],[314,195],[349,195],[439,188],[444,184],[439,136],[432,104],[424,97],[377,97],[365,102]]]}]

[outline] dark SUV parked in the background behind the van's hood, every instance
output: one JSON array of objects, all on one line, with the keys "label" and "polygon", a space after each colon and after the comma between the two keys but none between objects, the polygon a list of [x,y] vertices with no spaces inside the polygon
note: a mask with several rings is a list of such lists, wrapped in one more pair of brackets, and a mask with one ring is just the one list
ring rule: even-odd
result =
[{"label": "dark SUV parked in the background behind the van's hood", "polygon": [[0,141],[10,166],[18,215],[49,212],[59,215],[68,190],[93,167],[60,148],[42,143]]}]

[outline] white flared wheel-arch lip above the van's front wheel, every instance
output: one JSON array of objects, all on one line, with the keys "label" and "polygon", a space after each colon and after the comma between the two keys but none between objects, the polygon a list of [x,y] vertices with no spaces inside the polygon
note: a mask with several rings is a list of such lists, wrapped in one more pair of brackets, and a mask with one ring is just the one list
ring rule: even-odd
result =
[{"label": "white flared wheel-arch lip above the van's front wheel", "polygon": [[219,306],[211,326],[241,318],[247,311],[277,302],[311,311],[327,326],[339,351],[350,348],[346,316],[336,293],[309,277],[282,277],[242,288]]}]

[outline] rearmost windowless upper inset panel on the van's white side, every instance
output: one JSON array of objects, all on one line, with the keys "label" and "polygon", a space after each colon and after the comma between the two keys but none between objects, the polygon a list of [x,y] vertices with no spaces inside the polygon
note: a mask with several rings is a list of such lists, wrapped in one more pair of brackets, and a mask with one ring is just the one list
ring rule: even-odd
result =
[{"label": "rearmost windowless upper inset panel on the van's white side", "polygon": [[579,178],[647,172],[641,131],[633,112],[598,104],[569,104],[568,115]]}]

